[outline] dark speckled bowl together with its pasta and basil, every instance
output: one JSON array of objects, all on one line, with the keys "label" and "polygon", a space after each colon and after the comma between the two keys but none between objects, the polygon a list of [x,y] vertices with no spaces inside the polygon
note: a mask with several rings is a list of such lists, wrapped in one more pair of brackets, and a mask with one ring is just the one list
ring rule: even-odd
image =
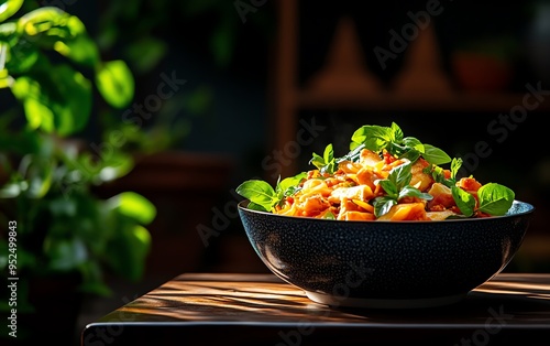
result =
[{"label": "dark speckled bowl together with its pasta and basil", "polygon": [[331,306],[459,302],[508,264],[535,210],[504,185],[459,179],[460,159],[395,123],[364,126],[348,154],[329,144],[310,162],[275,188],[243,182],[239,214],[266,267]]}]

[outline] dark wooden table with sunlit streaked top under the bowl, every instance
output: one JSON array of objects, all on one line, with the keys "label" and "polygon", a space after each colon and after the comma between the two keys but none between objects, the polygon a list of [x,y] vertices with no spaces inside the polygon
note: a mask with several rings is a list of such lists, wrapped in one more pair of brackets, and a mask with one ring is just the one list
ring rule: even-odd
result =
[{"label": "dark wooden table with sunlit streaked top under the bowl", "polygon": [[185,273],[90,323],[81,345],[550,345],[550,274],[501,273],[457,304],[334,309],[271,274]]}]

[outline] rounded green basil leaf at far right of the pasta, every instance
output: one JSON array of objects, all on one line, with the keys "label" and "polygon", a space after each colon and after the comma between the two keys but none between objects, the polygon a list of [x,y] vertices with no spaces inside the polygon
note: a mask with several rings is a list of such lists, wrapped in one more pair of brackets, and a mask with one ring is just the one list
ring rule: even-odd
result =
[{"label": "rounded green basil leaf at far right of the pasta", "polygon": [[497,183],[488,183],[477,191],[479,209],[490,215],[501,216],[508,212],[515,197],[510,188]]}]

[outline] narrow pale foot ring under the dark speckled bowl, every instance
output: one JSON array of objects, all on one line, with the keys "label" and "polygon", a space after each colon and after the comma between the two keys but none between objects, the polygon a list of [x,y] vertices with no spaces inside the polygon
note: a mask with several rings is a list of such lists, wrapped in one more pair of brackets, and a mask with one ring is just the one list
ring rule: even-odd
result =
[{"label": "narrow pale foot ring under the dark speckled bowl", "polygon": [[466,298],[468,293],[424,298],[424,299],[363,299],[334,296],[324,293],[306,291],[306,295],[314,302],[334,307],[363,307],[363,309],[421,309],[437,307],[458,303]]}]

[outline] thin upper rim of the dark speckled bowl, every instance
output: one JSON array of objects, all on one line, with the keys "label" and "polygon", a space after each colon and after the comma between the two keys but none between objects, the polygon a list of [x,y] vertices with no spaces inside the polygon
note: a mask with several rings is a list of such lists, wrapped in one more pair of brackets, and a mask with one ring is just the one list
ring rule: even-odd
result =
[{"label": "thin upper rim of the dark speckled bowl", "polygon": [[506,215],[502,215],[502,216],[490,216],[490,217],[480,217],[480,218],[454,218],[454,219],[449,219],[449,220],[400,220],[400,221],[392,221],[392,220],[337,220],[337,219],[315,218],[315,217],[306,217],[306,216],[287,216],[287,215],[280,215],[280,214],[273,214],[270,212],[249,209],[246,207],[249,202],[250,202],[250,199],[243,199],[243,201],[239,202],[238,203],[239,210],[258,214],[258,215],[266,215],[266,216],[276,217],[276,218],[284,218],[284,219],[311,220],[315,223],[343,223],[343,224],[353,223],[353,224],[395,224],[395,225],[430,224],[430,225],[432,225],[432,224],[449,224],[449,223],[483,223],[483,221],[506,219],[506,218],[518,217],[518,216],[527,216],[527,215],[535,213],[535,209],[536,209],[531,203],[519,201],[519,199],[514,199],[513,205],[521,204],[521,205],[527,207],[527,210],[524,210],[520,213],[514,213],[514,214],[506,214]]}]

